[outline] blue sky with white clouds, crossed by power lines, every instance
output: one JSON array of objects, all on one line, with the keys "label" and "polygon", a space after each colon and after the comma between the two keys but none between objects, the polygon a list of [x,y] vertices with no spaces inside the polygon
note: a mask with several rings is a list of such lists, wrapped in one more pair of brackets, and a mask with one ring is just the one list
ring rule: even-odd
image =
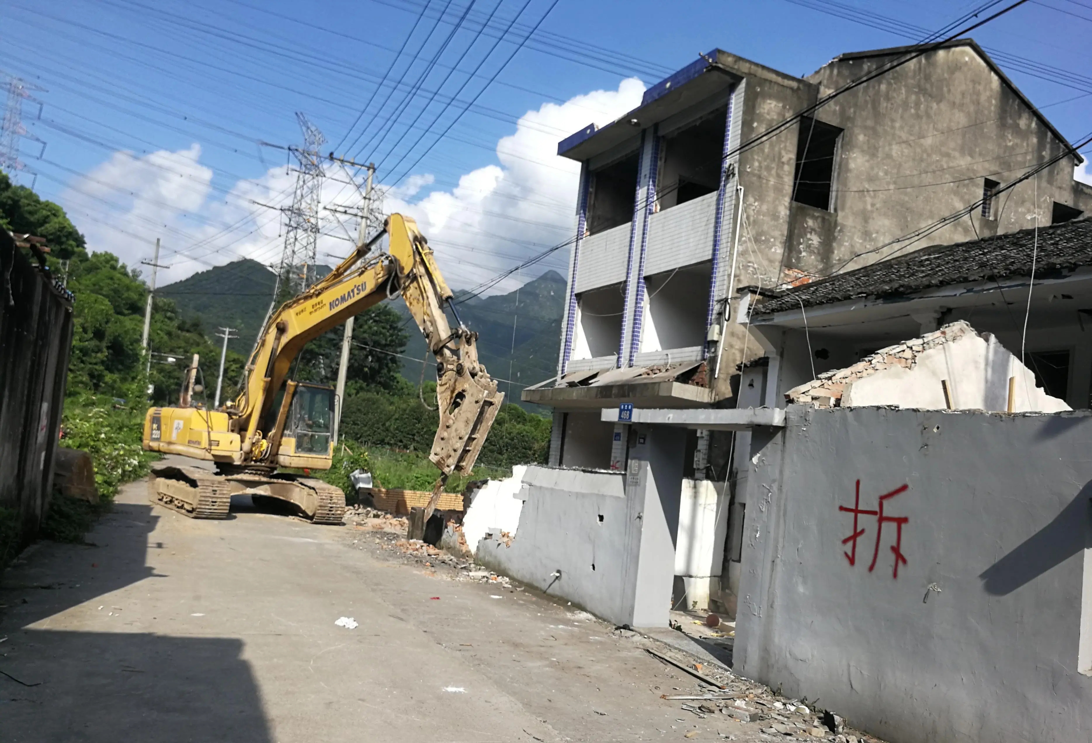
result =
[{"label": "blue sky with white clouds, crossed by power lines", "polygon": [[[166,281],[240,256],[275,260],[278,217],[252,201],[285,203],[295,176],[283,151],[260,142],[299,141],[295,111],[304,111],[329,140],[324,151],[380,164],[384,207],[415,213],[451,282],[467,287],[568,238],[575,172],[551,154],[556,141],[624,113],[699,51],[720,47],[808,74],[843,51],[910,43],[915,28],[981,4],[467,2],[8,0],[0,70],[46,89],[34,93],[41,120],[29,102],[24,118],[48,145],[38,160],[39,145],[24,141],[23,160],[92,249],[135,262],[159,236],[171,257]],[[495,31],[479,34],[490,14]],[[1071,141],[1092,130],[1092,0],[1028,2],[973,36],[1000,52],[1002,69]],[[373,95],[392,62],[387,80],[404,86]],[[461,104],[446,105],[452,94],[473,99],[461,117]],[[355,203],[355,188],[336,182],[347,174],[331,176],[323,200]],[[324,260],[347,249],[346,228],[332,217],[324,226]],[[559,251],[527,273],[563,270],[566,260]]]}]

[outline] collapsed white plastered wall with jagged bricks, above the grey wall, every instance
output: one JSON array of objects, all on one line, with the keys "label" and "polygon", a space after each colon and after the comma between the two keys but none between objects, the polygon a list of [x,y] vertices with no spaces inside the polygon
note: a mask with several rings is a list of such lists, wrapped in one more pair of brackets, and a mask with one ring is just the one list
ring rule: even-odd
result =
[{"label": "collapsed white plastered wall with jagged bricks, above the grey wall", "polygon": [[[1011,381],[1010,381],[1011,380]],[[1011,392],[1011,409],[1010,409]],[[918,410],[1055,413],[1071,410],[990,333],[964,320],[820,374],[785,393],[816,408],[892,405]]]}]

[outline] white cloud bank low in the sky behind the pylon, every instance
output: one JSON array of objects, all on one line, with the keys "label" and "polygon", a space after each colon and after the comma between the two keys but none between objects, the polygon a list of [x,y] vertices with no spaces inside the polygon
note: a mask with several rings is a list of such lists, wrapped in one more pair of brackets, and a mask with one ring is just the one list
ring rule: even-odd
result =
[{"label": "white cloud bank low in the sky behind the pylon", "polygon": [[[429,190],[436,182],[431,174],[412,175],[385,191],[383,210],[414,216],[452,287],[473,286],[572,236],[580,166],[557,156],[562,135],[554,132],[575,132],[592,120],[607,123],[639,105],[643,91],[640,80],[629,79],[614,91],[527,111],[515,132],[497,143],[499,165],[466,173],[448,190]],[[161,262],[171,268],[159,273],[161,285],[239,257],[276,262],[283,246],[280,214],[254,202],[289,204],[295,172],[270,168],[236,181],[225,193],[200,160],[199,144],[143,156],[116,152],[75,178],[60,202],[86,235],[90,250],[112,252],[130,267],[151,259],[155,238],[162,237]],[[345,173],[328,168],[328,174],[322,203],[358,207],[356,189],[339,182]],[[355,221],[340,220],[322,213],[320,262],[332,264],[349,249],[339,238],[355,236]],[[550,261],[555,267],[567,262],[567,249]],[[523,280],[543,270],[534,267]],[[514,286],[513,278],[495,291]]]}]

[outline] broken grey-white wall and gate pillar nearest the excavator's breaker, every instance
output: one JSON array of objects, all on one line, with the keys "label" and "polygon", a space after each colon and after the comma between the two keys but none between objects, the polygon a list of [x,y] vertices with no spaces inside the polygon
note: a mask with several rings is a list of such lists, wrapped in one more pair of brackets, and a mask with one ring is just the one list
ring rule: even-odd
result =
[{"label": "broken grey-white wall and gate pillar nearest the excavator's breaker", "polygon": [[684,448],[642,429],[625,472],[529,467],[514,539],[485,535],[477,561],[615,624],[667,626]]}]

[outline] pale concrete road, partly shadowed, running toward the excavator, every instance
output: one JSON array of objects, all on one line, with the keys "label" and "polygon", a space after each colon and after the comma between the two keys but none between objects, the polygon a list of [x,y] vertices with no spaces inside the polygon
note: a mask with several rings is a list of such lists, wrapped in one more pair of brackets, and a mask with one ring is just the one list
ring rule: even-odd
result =
[{"label": "pale concrete road, partly shadowed, running toward the excavator", "polygon": [[364,531],[194,521],[140,482],[87,539],[2,577],[2,741],[751,740],[660,699],[696,687],[643,640]]}]

